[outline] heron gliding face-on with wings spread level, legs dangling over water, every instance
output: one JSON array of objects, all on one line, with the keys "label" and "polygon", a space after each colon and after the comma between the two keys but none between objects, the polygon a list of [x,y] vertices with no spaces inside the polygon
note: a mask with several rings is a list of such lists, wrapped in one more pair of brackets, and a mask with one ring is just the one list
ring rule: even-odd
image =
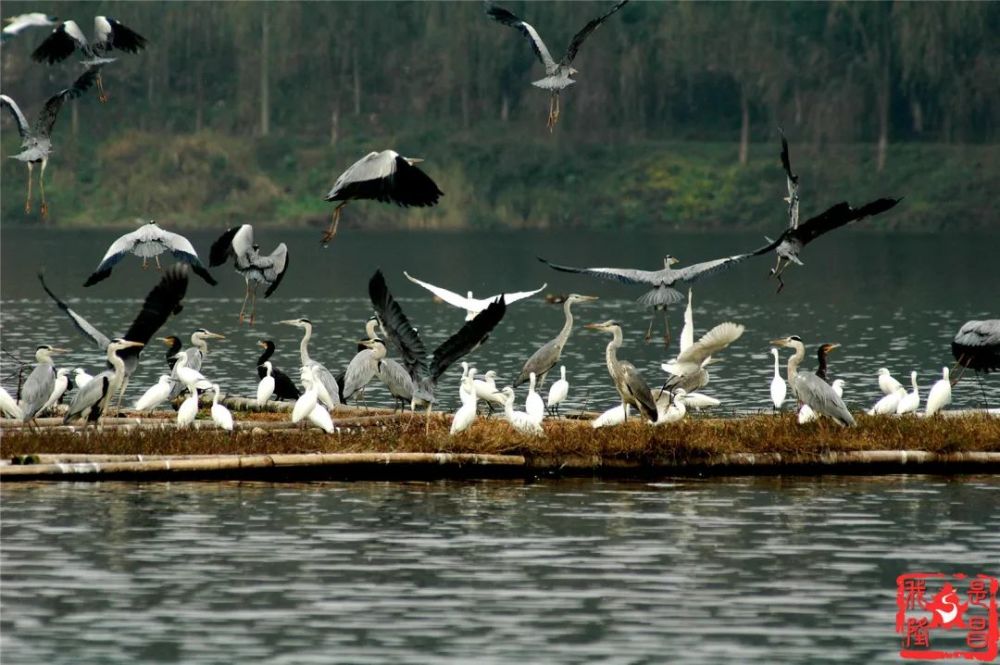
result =
[{"label": "heron gliding face-on with wings spread level, legs dangling over water", "polygon": [[[733,267],[741,261],[745,261],[753,255],[753,253],[735,254],[721,259],[695,263],[679,270],[675,270],[670,267],[677,263],[677,259],[669,254],[663,258],[662,270],[639,270],[636,268],[574,268],[572,266],[563,266],[551,263],[541,257],[538,257],[538,260],[550,268],[561,270],[562,272],[575,272],[622,284],[637,284],[647,288],[652,287],[638,299],[638,302],[645,307],[652,307],[654,310],[654,318],[656,310],[663,312],[663,344],[664,346],[669,346],[670,324],[667,321],[667,307],[684,300],[684,295],[674,287],[681,284],[690,284],[701,279],[702,277],[719,273]],[[652,335],[653,319],[650,319],[649,330],[646,332],[647,342],[650,340]]]}]

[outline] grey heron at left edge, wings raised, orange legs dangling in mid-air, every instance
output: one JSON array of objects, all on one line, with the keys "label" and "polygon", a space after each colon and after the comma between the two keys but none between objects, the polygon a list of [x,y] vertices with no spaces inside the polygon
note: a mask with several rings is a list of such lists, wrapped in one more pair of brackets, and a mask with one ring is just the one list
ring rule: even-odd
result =
[{"label": "grey heron at left edge, wings raised, orange legs dangling in mid-air", "polygon": [[66,100],[83,95],[94,84],[97,71],[97,67],[88,68],[73,82],[73,85],[49,97],[45,106],[38,112],[35,124],[30,126],[17,102],[7,95],[0,95],[0,106],[10,109],[14,122],[17,123],[17,131],[21,135],[21,152],[11,155],[11,158],[24,162],[28,167],[28,194],[24,199],[24,212],[31,212],[31,180],[35,164],[39,164],[41,168],[38,173],[38,189],[42,197],[40,210],[42,217],[49,214],[49,204],[45,201],[45,167],[48,166],[49,155],[52,154],[52,128],[55,127],[59,110]]}]

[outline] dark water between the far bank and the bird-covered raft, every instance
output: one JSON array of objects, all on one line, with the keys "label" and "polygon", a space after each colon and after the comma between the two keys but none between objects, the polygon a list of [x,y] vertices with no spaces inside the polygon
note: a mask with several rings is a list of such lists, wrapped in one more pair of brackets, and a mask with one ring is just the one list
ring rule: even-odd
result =
[{"label": "dark water between the far bank and the bird-covered raft", "polygon": [[[106,281],[82,288],[119,230],[56,232],[35,229],[3,230],[0,294],[3,345],[30,358],[38,343],[69,345],[74,352],[65,362],[91,370],[102,360],[88,348],[47,300],[35,272],[44,267],[56,293],[72,298],[74,308],[104,332],[124,332],[141,298],[158,279],[130,257]],[[203,255],[214,234],[191,234]],[[603,409],[616,396],[603,363],[604,335],[585,331],[579,323],[619,320],[626,331],[620,356],[631,360],[650,383],[663,376],[659,365],[676,354],[676,341],[665,351],[662,343],[643,344],[648,317],[634,298],[641,289],[554,272],[535,261],[535,255],[580,265],[662,266],[663,254],[681,257],[685,264],[756,247],[756,235],[682,235],[676,232],[596,233],[344,233],[326,250],[319,233],[308,230],[257,230],[258,241],[270,247],[288,243],[291,267],[285,281],[267,300],[258,303],[254,328],[237,326],[243,282],[230,268],[214,272],[214,289],[192,278],[184,311],[162,334],[187,337],[206,327],[228,339],[211,345],[206,374],[232,393],[252,395],[256,340],[271,337],[278,343],[276,364],[292,372],[298,359],[298,329],[279,326],[284,318],[308,316],[316,326],[312,356],[331,368],[345,367],[354,353],[353,340],[364,332],[370,314],[367,280],[376,267],[402,301],[428,346],[433,348],[458,329],[463,313],[431,302],[429,294],[410,284],[404,269],[433,283],[486,296],[500,288],[521,290],[548,282],[550,293],[576,291],[599,295],[597,303],[576,307],[578,327],[563,355],[571,385],[572,406]],[[830,357],[834,377],[846,380],[845,398],[853,408],[869,407],[880,396],[875,380],[879,367],[889,367],[901,380],[911,369],[919,372],[922,395],[951,365],[950,341],[963,322],[996,318],[1000,293],[992,247],[1000,236],[907,237],[854,231],[833,234],[803,255],[806,267],[786,273],[788,287],[775,295],[766,277],[771,259],[751,259],[727,273],[696,284],[694,321],[697,334],[725,320],[747,326],[744,336],[712,365],[711,384],[705,390],[723,400],[727,409],[758,409],[769,404],[772,371],[768,340],[800,335],[810,347],[824,341],[843,346]],[[471,358],[481,372],[495,369],[500,385],[516,377],[524,360],[562,325],[558,306],[540,297],[513,305],[488,344]],[[657,325],[661,325],[657,322]],[[682,308],[671,311],[671,327],[679,334]],[[659,330],[659,328],[657,328]],[[164,370],[165,348],[154,343],[130,386],[138,397]],[[811,353],[810,353],[811,356]],[[783,357],[787,357],[787,354]],[[807,367],[812,367],[810,357]],[[9,367],[4,358],[3,366]],[[458,404],[453,370],[444,379],[446,408]],[[8,372],[3,374],[6,376]],[[991,377],[992,379],[993,377]],[[4,378],[9,386],[9,379]],[[989,401],[1000,404],[1000,384],[985,382]],[[369,391],[374,401],[390,403],[384,390]],[[519,398],[523,397],[523,393]],[[980,405],[982,395],[974,379],[963,380],[954,391],[954,407]]]}]

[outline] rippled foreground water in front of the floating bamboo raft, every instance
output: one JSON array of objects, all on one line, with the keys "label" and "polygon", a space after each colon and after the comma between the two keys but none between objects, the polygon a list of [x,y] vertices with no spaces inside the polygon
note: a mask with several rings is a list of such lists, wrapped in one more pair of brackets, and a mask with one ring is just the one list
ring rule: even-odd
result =
[{"label": "rippled foreground water in front of the floating bamboo raft", "polygon": [[11,663],[898,662],[996,476],[5,485]]}]

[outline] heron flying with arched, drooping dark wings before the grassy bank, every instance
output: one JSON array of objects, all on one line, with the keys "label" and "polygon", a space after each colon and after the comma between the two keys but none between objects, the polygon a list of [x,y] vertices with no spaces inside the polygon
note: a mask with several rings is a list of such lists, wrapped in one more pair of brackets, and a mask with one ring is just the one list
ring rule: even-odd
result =
[{"label": "heron flying with arched, drooping dark wings before the grassy bank", "polygon": [[424,160],[403,157],[395,150],[370,152],[340,174],[324,201],[339,201],[333,211],[330,227],[323,234],[326,245],[337,233],[340,210],[349,201],[370,199],[395,203],[404,208],[436,205],[444,192],[430,176],[415,165]]}]

